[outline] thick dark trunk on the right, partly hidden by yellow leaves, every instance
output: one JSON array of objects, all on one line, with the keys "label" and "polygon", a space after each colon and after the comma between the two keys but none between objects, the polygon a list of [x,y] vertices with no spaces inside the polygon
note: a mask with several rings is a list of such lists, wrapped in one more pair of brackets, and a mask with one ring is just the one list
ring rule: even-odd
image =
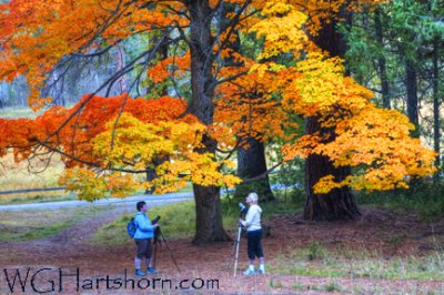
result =
[{"label": "thick dark trunk on the right, partly hidden by yellow leaves", "polygon": [[[344,10],[340,12],[342,18],[350,22],[350,14]],[[346,44],[336,29],[336,22],[332,20],[323,23],[319,35],[312,38],[313,41],[323,50],[330,52],[331,57],[344,57]],[[305,133],[330,134],[334,139],[332,130],[321,128],[317,118],[307,118],[305,122]],[[336,181],[345,179],[351,174],[351,169],[334,167],[332,161],[323,155],[310,155],[305,161],[305,206],[304,218],[311,221],[333,221],[333,220],[353,220],[361,215],[353,194],[349,186],[341,190],[332,190],[327,194],[315,194],[313,185],[326,175],[333,175]]]}]

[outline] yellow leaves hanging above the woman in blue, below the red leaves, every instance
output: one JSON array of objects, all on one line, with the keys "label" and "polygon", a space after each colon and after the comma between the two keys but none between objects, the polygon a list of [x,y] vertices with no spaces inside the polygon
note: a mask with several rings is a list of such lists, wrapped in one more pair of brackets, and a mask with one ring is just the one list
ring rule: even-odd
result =
[{"label": "yellow leaves hanging above the woman in blue, below the red leaves", "polygon": [[[62,183],[69,190],[79,191],[80,197],[95,200],[111,191],[114,196],[124,196],[140,189],[155,187],[154,193],[172,192],[192,181],[200,185],[226,185],[240,183],[233,175],[224,175],[212,153],[199,153],[203,148],[202,135],[206,128],[201,123],[160,121],[144,123],[123,112],[107,124],[107,130],[93,139],[93,155],[108,167],[132,169],[144,172],[155,169],[158,175],[151,182],[137,183],[133,176],[113,173],[95,175],[89,170],[68,170]],[[112,143],[112,144],[111,144]]]}]

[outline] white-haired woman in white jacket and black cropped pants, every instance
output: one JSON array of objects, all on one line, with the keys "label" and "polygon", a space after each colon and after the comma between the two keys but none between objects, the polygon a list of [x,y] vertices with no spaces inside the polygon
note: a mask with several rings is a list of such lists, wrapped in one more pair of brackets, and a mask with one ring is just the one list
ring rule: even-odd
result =
[{"label": "white-haired woman in white jacket and black cropped pants", "polygon": [[244,275],[255,274],[254,272],[254,258],[258,257],[260,262],[259,274],[265,273],[264,255],[262,251],[262,226],[261,226],[261,214],[262,208],[258,205],[258,194],[250,193],[245,199],[249,204],[249,211],[246,212],[245,220],[240,220],[240,223],[246,227],[248,237],[248,252],[250,258],[250,267],[243,272]]}]

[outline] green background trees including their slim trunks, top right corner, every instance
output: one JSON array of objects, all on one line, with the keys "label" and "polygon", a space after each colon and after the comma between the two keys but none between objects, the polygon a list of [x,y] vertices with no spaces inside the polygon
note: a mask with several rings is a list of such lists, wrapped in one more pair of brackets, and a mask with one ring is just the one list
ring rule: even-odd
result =
[{"label": "green background trees including their slim trunks, top right corner", "polygon": [[443,7],[442,1],[390,1],[375,11],[355,13],[354,26],[344,30],[352,74],[377,93],[376,102],[381,98],[387,106],[390,93],[391,105],[417,122],[415,134],[421,131],[422,139],[434,146],[437,169],[443,95],[440,80],[434,77],[442,72],[443,51],[436,45],[443,43]]}]

